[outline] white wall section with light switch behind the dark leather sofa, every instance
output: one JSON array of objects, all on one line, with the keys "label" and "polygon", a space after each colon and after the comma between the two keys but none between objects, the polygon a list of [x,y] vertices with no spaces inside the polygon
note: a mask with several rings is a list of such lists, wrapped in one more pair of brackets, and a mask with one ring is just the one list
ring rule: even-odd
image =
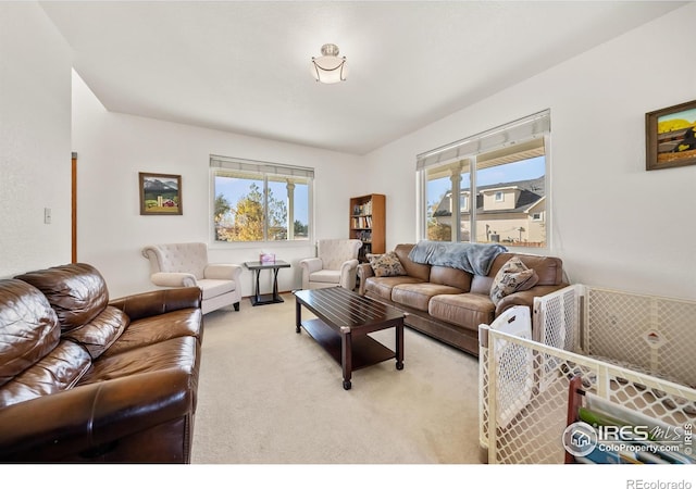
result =
[{"label": "white wall section with light switch behind the dark leather sofa", "polygon": [[0,2],[0,277],[11,277],[70,262],[72,60],[44,11],[21,2]]}]

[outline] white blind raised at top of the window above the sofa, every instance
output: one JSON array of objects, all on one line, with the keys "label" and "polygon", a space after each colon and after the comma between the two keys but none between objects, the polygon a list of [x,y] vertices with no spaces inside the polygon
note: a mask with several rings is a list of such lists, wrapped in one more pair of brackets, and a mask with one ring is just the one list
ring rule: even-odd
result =
[{"label": "white blind raised at top of the window above the sofa", "polygon": [[[420,171],[523,142],[526,145],[520,147],[522,151],[534,150],[535,147],[543,149],[543,136],[550,130],[550,111],[537,112],[504,126],[421,153],[417,156],[415,168]],[[530,142],[534,139],[539,139],[538,145]]]}]

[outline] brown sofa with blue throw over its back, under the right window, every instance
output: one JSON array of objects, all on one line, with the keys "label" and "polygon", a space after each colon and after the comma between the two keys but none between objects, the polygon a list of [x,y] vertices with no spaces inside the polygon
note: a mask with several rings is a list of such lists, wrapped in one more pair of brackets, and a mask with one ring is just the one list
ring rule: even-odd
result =
[{"label": "brown sofa with blue throw over its back, under the right window", "polygon": [[[370,263],[358,265],[358,292],[394,305],[406,313],[405,324],[445,343],[478,356],[478,325],[490,324],[512,305],[533,306],[534,297],[566,287],[562,261],[554,256],[504,252],[493,261],[487,275],[463,269],[414,263],[414,244],[398,244],[395,253],[406,275],[376,277]],[[500,267],[518,256],[538,277],[529,290],[504,297],[498,304],[490,288]]]}]

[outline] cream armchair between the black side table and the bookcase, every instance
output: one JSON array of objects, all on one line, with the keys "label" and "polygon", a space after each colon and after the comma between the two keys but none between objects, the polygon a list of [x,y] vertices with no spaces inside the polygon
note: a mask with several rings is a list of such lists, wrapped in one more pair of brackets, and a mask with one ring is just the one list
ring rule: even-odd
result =
[{"label": "cream armchair between the black side table and the bookcase", "polygon": [[359,239],[320,239],[316,241],[316,258],[300,261],[302,288],[321,289],[340,286],[356,288]]}]

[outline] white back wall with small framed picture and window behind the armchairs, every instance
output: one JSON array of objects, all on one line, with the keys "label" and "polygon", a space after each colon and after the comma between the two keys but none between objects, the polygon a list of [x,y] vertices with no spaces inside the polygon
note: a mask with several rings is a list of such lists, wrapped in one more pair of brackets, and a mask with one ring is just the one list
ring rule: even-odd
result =
[{"label": "white back wall with small framed picture and window behind the armchairs", "polygon": [[[347,238],[350,189],[361,159],[325,150],[245,137],[187,125],[111,113],[76,74],[73,76],[73,151],[78,155],[79,261],[95,265],[112,297],[156,288],[149,280],[144,246],[157,242],[210,242],[209,155],[221,154],[315,168],[315,238]],[[183,215],[142,216],[138,172],[182,175]],[[281,290],[300,288],[299,260],[314,256],[313,242],[211,244],[212,262],[241,264],[259,252],[290,262],[278,273]],[[262,292],[271,273],[262,275]],[[243,296],[252,293],[245,269]]]}]

